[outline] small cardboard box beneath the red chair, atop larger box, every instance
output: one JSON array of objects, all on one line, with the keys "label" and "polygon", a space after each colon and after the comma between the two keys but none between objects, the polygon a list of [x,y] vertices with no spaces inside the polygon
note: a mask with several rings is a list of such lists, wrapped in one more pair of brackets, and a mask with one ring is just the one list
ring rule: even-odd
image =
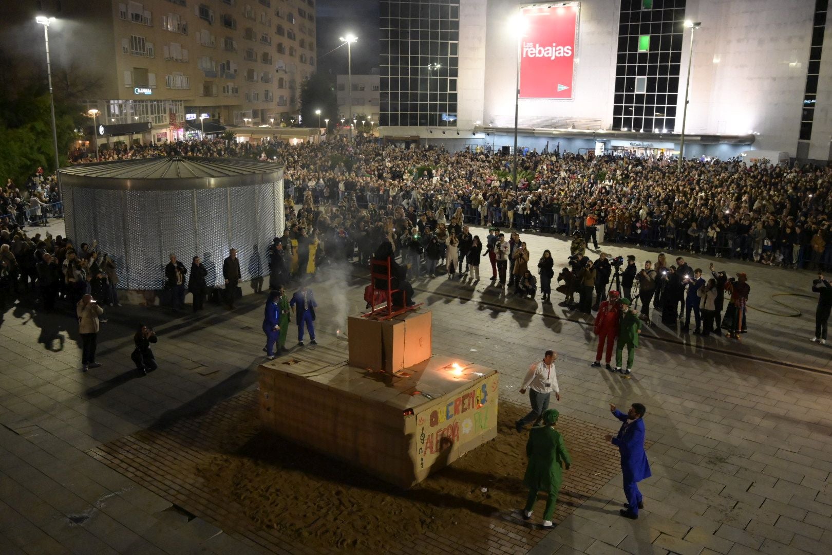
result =
[{"label": "small cardboard box beneath the red chair, atop larger box", "polygon": [[429,359],[432,321],[429,310],[406,312],[390,320],[350,316],[349,364],[393,373]]}]

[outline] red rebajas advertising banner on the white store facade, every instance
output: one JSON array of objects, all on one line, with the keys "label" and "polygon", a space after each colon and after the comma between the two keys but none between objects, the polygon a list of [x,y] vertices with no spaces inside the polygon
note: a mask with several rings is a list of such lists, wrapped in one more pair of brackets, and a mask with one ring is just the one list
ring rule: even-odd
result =
[{"label": "red rebajas advertising banner on the white store facade", "polygon": [[577,14],[577,3],[522,9],[521,98],[572,98]]}]

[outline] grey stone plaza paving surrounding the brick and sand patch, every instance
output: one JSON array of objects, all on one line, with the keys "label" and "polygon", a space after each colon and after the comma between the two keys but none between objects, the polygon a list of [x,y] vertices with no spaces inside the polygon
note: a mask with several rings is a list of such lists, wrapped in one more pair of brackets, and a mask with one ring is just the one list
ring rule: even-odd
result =
[{"label": "grey stone plaza paving surrounding the brick and sand patch", "polygon": [[[532,260],[545,248],[558,262],[566,259],[561,238],[523,238]],[[602,248],[635,254],[639,264],[646,255]],[[706,269],[708,259],[691,258],[692,267]],[[832,552],[832,434],[825,418],[832,348],[808,341],[815,299],[799,296],[811,295],[814,275],[714,261],[718,269],[749,273],[750,333],[738,344],[654,325],[642,336],[632,379],[589,367],[591,320],[558,306],[562,295],[542,305],[539,296],[504,295],[487,279],[416,281],[417,300],[433,310],[434,352],[499,369],[503,399],[525,403],[517,389],[527,365],[554,348],[557,408],[570,418],[612,432],[617,421],[609,403],[647,406],[653,477],[641,483],[646,509],[639,520],[617,516],[619,475],[537,546],[492,551]],[[490,276],[487,259],[480,269]],[[335,330],[363,308],[363,286],[347,270],[314,285],[322,343],[340,340]],[[78,369],[71,315],[42,315],[29,301],[7,310],[0,321],[0,553],[259,553],[86,452],[255,387],[262,302],[251,295],[231,313],[210,307],[196,316],[158,307],[107,310],[98,349],[104,365],[87,374]],[[160,369],[132,379],[131,335],[140,321],[160,335]]]}]

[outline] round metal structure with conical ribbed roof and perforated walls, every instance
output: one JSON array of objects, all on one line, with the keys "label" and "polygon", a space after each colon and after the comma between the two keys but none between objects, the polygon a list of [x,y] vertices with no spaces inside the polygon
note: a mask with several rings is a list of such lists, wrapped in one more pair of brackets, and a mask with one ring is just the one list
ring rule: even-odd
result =
[{"label": "round metal structure with conical ribbed roof and perforated walls", "polygon": [[241,281],[269,274],[266,249],[282,235],[283,168],[234,158],[171,156],[62,168],[67,237],[116,263],[118,288],[160,290],[168,257],[190,270],[199,255],[208,286],[237,250]]}]

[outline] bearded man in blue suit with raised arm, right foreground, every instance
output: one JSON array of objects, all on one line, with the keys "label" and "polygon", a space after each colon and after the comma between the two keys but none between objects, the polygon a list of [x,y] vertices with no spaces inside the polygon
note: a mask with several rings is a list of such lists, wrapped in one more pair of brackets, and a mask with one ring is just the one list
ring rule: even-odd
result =
[{"label": "bearded man in blue suit with raised arm, right foreground", "polygon": [[638,509],[644,508],[641,502],[641,492],[638,483],[644,478],[650,478],[650,463],[647,463],[647,453],[644,452],[644,414],[647,412],[641,403],[633,403],[627,414],[610,404],[610,412],[622,421],[618,435],[607,435],[605,439],[617,446],[622,454],[622,473],[624,474],[624,495],[626,508],[619,513],[622,517],[638,518]]}]

